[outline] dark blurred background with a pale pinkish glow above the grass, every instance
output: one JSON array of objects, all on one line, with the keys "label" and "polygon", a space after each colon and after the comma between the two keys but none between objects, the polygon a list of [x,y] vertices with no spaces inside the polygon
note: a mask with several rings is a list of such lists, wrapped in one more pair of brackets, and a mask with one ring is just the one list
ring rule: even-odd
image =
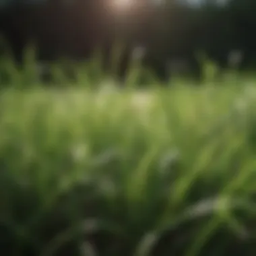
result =
[{"label": "dark blurred background with a pale pinkish glow above the grass", "polygon": [[[120,74],[135,49],[158,77],[176,69],[199,73],[198,53],[219,67],[249,70],[256,60],[253,0],[1,0],[0,34],[15,60],[28,44],[38,61],[88,60],[125,45]],[[6,52],[2,47],[2,53]]]}]

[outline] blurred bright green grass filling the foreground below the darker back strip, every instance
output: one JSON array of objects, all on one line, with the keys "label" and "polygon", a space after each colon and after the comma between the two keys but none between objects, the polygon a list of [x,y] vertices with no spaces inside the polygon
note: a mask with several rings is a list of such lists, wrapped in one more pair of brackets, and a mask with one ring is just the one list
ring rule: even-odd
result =
[{"label": "blurred bright green grass filling the foreground below the darker back strip", "polygon": [[253,255],[256,89],[0,95],[3,255]]}]

